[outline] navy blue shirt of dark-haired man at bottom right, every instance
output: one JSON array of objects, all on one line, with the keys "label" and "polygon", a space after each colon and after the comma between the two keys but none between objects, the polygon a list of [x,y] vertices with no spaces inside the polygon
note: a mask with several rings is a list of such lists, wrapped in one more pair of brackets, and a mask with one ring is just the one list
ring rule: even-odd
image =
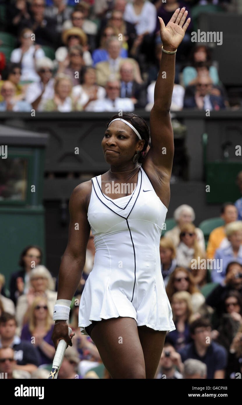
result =
[{"label": "navy blue shirt of dark-haired man at bottom right", "polygon": [[183,363],[188,358],[195,358],[205,363],[207,366],[207,379],[213,379],[215,371],[224,370],[227,366],[227,351],[219,343],[212,342],[202,357],[197,354],[194,341],[178,350],[178,353],[180,353]]}]

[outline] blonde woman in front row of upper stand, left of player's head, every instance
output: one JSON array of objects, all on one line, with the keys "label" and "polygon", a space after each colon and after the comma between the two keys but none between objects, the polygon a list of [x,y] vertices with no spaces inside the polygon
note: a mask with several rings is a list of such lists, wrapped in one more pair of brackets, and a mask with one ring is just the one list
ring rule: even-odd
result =
[{"label": "blonde woman in front row of upper stand, left of player's head", "polygon": [[72,80],[68,75],[61,73],[56,77],[54,90],[54,98],[45,102],[43,111],[60,111],[62,113],[69,113],[70,111],[83,110],[83,107],[81,107],[71,96]]}]

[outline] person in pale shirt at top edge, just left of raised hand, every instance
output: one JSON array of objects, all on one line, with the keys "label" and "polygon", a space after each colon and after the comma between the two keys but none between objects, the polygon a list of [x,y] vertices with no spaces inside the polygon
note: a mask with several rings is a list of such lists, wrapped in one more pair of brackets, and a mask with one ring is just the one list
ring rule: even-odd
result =
[{"label": "person in pale shirt at top edge, just left of raised hand", "polygon": [[134,0],[134,4],[128,3],[125,7],[123,19],[135,24],[138,35],[153,34],[156,27],[157,11],[149,1]]}]

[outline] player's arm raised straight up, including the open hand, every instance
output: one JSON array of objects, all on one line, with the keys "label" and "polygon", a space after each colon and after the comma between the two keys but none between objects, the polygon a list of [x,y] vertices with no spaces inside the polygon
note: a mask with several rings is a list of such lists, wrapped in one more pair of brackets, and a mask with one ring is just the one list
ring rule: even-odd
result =
[{"label": "player's arm raised straight up, including the open hand", "polygon": [[[160,35],[164,51],[174,52],[184,38],[190,22],[185,7],[176,9],[167,26],[160,20]],[[170,106],[175,77],[176,53],[162,52],[159,75],[155,84],[155,101],[150,115],[151,149],[143,163],[144,169],[155,166],[158,171],[171,175],[174,155],[174,139],[170,118]]]}]

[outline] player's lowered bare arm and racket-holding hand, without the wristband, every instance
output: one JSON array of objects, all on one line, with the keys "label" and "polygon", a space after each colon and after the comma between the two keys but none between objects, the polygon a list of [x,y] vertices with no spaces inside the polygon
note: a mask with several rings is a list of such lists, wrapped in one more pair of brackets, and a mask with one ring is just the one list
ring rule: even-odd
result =
[{"label": "player's lowered bare arm and racket-holding hand, without the wristband", "polygon": [[[70,196],[69,237],[59,268],[58,300],[72,300],[85,265],[87,242],[90,234],[90,225],[87,220],[87,198],[91,192],[89,183],[86,182],[77,186]],[[56,321],[52,339],[55,349],[61,339],[72,345],[68,336],[66,321]]]}]

